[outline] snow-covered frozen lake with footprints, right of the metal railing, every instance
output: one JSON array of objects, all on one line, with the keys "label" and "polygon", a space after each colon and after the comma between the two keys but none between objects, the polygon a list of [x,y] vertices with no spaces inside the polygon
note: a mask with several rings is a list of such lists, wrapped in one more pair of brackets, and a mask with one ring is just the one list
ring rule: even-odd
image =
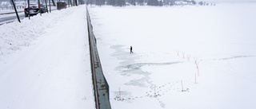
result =
[{"label": "snow-covered frozen lake with footprints, right of the metal railing", "polygon": [[255,108],[255,7],[90,7],[111,106]]}]

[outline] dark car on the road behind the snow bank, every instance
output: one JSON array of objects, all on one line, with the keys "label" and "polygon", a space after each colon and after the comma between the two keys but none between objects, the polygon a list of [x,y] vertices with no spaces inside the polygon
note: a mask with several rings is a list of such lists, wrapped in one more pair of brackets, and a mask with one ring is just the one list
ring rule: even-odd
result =
[{"label": "dark car on the road behind the snow bank", "polygon": [[[46,7],[40,4],[41,14],[46,13]],[[25,17],[29,16],[28,5],[24,8]],[[30,16],[34,16],[40,13],[39,6],[36,3],[30,3]]]}]

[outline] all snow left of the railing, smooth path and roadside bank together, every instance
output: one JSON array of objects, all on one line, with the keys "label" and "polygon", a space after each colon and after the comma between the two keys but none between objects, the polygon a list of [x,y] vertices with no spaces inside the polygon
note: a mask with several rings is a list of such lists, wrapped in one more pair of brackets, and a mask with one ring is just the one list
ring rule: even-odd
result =
[{"label": "all snow left of the railing, smooth path and roadside bank together", "polygon": [[86,6],[0,26],[0,108],[94,108]]}]

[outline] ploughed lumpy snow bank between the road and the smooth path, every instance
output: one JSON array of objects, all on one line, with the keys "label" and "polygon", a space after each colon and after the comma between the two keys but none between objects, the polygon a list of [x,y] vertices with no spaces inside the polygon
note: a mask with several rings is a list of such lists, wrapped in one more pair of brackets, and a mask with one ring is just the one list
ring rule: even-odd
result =
[{"label": "ploughed lumpy snow bank between the road and the smooth path", "polygon": [[14,53],[22,49],[23,46],[31,45],[31,42],[37,37],[44,37],[44,33],[53,26],[65,20],[66,16],[74,10],[66,9],[65,11],[53,11],[49,14],[24,18],[22,23],[18,20],[0,26],[0,60],[1,56]]}]

